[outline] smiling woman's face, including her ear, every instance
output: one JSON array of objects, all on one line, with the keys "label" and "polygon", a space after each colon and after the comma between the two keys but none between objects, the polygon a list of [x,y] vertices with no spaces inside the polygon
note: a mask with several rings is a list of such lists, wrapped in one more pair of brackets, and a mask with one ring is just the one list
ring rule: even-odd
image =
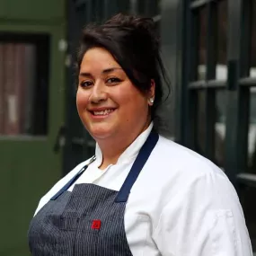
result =
[{"label": "smiling woman's face, including her ear", "polygon": [[93,48],[84,54],[76,105],[96,140],[138,135],[146,129],[150,96],[154,86],[147,95],[140,93],[106,49]]}]

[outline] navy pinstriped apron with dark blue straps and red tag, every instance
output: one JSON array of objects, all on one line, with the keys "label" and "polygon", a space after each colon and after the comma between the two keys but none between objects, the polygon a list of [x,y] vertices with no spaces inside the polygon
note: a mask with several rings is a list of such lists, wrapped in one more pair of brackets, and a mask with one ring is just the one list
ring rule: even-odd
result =
[{"label": "navy pinstriped apron with dark blue straps and red tag", "polygon": [[132,256],[124,214],[129,192],[158,141],[151,132],[119,191],[75,184],[87,166],[52,197],[31,220],[29,245],[34,256]]}]

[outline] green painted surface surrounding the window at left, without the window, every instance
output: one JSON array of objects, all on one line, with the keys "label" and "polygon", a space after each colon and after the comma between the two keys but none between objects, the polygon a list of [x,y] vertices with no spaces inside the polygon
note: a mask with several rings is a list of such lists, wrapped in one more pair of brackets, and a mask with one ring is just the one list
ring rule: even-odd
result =
[{"label": "green painted surface surrounding the window at left, without the window", "polygon": [[39,199],[60,178],[61,154],[53,152],[64,121],[66,36],[64,0],[0,0],[0,33],[47,33],[49,133],[46,137],[0,137],[0,256],[30,255],[27,230]]}]

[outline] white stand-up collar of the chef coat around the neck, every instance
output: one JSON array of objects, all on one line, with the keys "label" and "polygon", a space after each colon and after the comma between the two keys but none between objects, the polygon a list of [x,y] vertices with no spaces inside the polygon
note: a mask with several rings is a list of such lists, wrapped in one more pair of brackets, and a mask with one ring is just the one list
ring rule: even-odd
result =
[{"label": "white stand-up collar of the chef coat around the neck", "polygon": [[[153,122],[150,123],[148,128],[144,132],[142,132],[136,139],[135,141],[128,146],[128,148],[119,156],[119,160],[116,164],[119,163],[127,163],[133,158],[135,158],[141,148],[141,146],[144,145],[146,142],[146,138],[149,136],[151,130],[153,128]],[[96,148],[95,148],[95,155],[96,155],[96,161],[95,165],[99,167],[102,164],[102,150],[98,143],[96,143]],[[110,164],[112,165],[112,164]],[[107,167],[108,168],[108,167]]]}]

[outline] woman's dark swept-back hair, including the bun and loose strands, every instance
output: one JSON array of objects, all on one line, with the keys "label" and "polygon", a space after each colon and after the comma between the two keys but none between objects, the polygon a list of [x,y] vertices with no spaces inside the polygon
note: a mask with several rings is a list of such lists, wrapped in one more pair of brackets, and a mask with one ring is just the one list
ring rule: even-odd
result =
[{"label": "woman's dark swept-back hair, including the bun and loose strands", "polygon": [[168,89],[165,100],[170,94],[170,83],[160,57],[159,37],[153,19],[119,13],[102,25],[86,26],[77,55],[78,72],[85,52],[94,47],[107,49],[140,92],[148,92],[154,79],[151,114],[154,125],[159,124],[155,110],[163,102],[163,82]]}]

